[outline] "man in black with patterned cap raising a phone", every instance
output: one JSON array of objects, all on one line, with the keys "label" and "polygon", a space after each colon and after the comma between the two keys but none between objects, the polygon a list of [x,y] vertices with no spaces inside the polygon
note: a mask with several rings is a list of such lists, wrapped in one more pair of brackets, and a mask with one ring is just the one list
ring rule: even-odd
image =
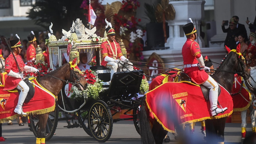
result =
[{"label": "man in black with patterned cap raising a phone", "polygon": [[[229,27],[225,28],[224,25],[225,21],[222,21],[222,31],[224,33],[227,33],[225,42],[224,42],[224,46],[226,45],[227,47],[229,47],[230,49],[236,49],[236,42],[235,42],[235,35],[238,35],[240,32],[238,30],[237,26],[237,22],[231,18],[229,21]],[[225,49],[225,48],[224,48]],[[226,50],[226,49],[225,49]]]}]

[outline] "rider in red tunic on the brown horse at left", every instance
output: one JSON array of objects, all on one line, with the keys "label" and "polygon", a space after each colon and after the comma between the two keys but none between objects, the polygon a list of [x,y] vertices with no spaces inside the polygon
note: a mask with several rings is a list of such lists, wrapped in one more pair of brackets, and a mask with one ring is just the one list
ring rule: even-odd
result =
[{"label": "rider in red tunic on the brown horse at left", "polygon": [[[16,36],[18,37],[17,34]],[[4,70],[7,72],[8,77],[6,78],[6,83],[4,85],[3,90],[12,90],[15,88],[21,90],[19,99],[18,99],[18,104],[14,109],[14,112],[16,112],[17,114],[26,115],[26,113],[22,111],[22,105],[27,97],[27,93],[29,92],[29,87],[23,81],[24,76],[23,76],[23,73],[22,74],[19,73],[18,66],[21,72],[23,71],[38,72],[38,69],[24,64],[21,56],[19,55],[21,53],[21,47],[23,47],[21,45],[19,37],[18,39],[10,40],[10,44],[18,65],[16,64],[14,57],[11,53],[5,60]]]}]

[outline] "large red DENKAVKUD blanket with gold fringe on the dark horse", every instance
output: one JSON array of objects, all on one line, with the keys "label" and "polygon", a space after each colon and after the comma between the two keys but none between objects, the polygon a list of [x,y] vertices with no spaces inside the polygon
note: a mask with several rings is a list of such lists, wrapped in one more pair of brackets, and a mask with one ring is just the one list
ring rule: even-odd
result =
[{"label": "large red DENKAVKUD blanket with gold fringe on the dark horse", "polygon": [[187,124],[232,114],[232,98],[225,88],[220,88],[218,101],[228,109],[215,117],[210,114],[210,102],[206,102],[200,86],[184,81],[167,82],[146,93],[146,105],[165,130],[174,132],[174,121]]}]

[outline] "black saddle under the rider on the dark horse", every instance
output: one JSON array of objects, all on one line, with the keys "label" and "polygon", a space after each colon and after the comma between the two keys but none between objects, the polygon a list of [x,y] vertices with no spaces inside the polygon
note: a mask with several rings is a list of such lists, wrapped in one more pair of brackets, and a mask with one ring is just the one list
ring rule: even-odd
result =
[{"label": "black saddle under the rider on the dark horse", "polygon": [[[178,77],[181,79],[181,81],[188,81],[188,82],[194,83],[194,82],[191,80],[191,78],[190,78],[187,74],[185,74],[185,73],[181,73]],[[195,83],[194,83],[194,84],[195,84]],[[218,84],[218,85],[219,85],[219,84]],[[203,86],[202,84],[200,84],[199,86],[200,86],[200,88],[201,88],[201,90],[202,90],[203,97],[204,97],[206,100],[209,100],[210,89],[207,88],[207,87],[205,87],[205,86]],[[219,95],[220,95],[220,92],[221,92],[221,90],[220,90],[220,88],[219,88],[219,89],[218,89],[218,97],[219,97]]]}]

